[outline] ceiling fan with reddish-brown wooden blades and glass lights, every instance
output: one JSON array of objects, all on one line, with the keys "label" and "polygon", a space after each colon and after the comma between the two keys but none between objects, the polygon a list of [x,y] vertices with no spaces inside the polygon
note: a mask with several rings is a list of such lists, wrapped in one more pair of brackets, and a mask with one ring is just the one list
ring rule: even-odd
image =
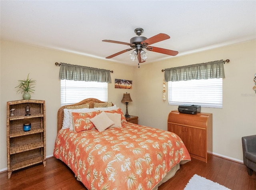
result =
[{"label": "ceiling fan with reddish-brown wooden blades and glass lights", "polygon": [[137,36],[131,38],[130,43],[118,42],[118,41],[114,41],[114,40],[102,40],[102,42],[124,44],[124,45],[128,45],[128,46],[131,47],[131,48],[125,49],[123,51],[119,51],[118,53],[114,53],[113,55],[110,55],[110,56],[106,57],[106,59],[110,59],[112,57],[115,57],[117,55],[120,55],[122,53],[130,51],[132,49],[135,49],[134,51],[132,51],[132,53],[129,54],[129,57],[130,57],[130,59],[132,59],[132,61],[137,61],[138,60],[138,65],[139,65],[139,68],[140,68],[140,63],[145,62],[146,59],[148,58],[148,53],[143,50],[144,48],[148,51],[154,51],[154,52],[157,52],[157,53],[164,53],[166,55],[175,56],[175,55],[178,54],[178,51],[173,51],[173,50],[170,50],[170,49],[164,49],[164,48],[157,48],[157,47],[149,46],[149,45],[154,44],[156,42],[161,42],[163,40],[169,39],[170,36],[168,36],[167,34],[160,33],[160,34],[157,34],[156,36],[152,36],[151,38],[146,38],[144,36],[140,36],[144,32],[144,30],[142,28],[136,28],[134,30],[134,32]]}]

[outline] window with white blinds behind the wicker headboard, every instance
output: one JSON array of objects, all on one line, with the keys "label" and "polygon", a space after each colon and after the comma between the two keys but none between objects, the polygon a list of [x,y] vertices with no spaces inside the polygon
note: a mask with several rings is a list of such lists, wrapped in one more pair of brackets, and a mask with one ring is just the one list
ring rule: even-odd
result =
[{"label": "window with white blinds behind the wicker headboard", "polygon": [[108,101],[108,83],[95,81],[60,80],[61,106],[78,103],[86,98]]}]

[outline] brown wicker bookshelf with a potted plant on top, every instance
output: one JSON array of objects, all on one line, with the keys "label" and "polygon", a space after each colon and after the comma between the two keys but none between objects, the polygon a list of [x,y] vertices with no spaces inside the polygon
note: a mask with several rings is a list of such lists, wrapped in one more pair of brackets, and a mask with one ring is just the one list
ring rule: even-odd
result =
[{"label": "brown wicker bookshelf with a potted plant on top", "polygon": [[[29,116],[26,106],[29,106]],[[14,116],[10,110],[14,110]],[[23,124],[31,123],[31,130],[24,131]],[[8,179],[12,172],[43,162],[46,165],[45,150],[45,101],[18,100],[7,102],[7,164]]]}]

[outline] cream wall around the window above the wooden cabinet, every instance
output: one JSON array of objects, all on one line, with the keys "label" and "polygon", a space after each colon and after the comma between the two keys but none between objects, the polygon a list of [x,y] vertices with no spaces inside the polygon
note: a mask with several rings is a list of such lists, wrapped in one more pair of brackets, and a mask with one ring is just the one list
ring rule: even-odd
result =
[{"label": "cream wall around the window above the wooden cabinet", "polygon": [[255,40],[141,65],[135,70],[136,111],[139,124],[167,130],[168,113],[178,106],[162,100],[161,70],[220,59],[230,59],[224,65],[223,108],[202,108],[201,112],[213,114],[214,154],[242,162],[241,137],[256,134],[256,94],[252,90],[256,73]]}]

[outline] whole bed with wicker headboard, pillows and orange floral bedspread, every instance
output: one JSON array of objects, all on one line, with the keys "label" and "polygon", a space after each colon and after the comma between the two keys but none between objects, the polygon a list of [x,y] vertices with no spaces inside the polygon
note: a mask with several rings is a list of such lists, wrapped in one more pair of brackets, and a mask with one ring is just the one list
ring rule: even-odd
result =
[{"label": "whole bed with wicker headboard, pillows and orange floral bedspread", "polygon": [[87,189],[157,190],[180,164],[191,160],[176,134],[129,123],[112,103],[94,108],[96,104],[104,102],[90,98],[60,107],[54,146],[54,156],[71,168]]}]

